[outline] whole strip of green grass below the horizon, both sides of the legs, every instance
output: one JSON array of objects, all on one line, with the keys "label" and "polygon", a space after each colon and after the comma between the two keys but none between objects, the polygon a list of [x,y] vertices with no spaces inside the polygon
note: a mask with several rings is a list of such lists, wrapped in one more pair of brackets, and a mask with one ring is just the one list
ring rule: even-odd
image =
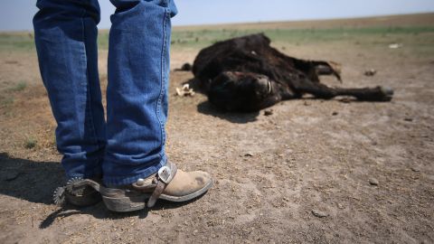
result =
[{"label": "whole strip of green grass below the horizon, both sides of the legs", "polygon": [[[315,44],[317,42],[356,42],[375,45],[388,42],[407,42],[414,46],[434,48],[434,26],[376,26],[336,28],[174,28],[172,48],[198,50],[214,42],[250,33],[265,33],[278,44]],[[109,32],[99,32],[99,49],[109,47]],[[33,52],[33,33],[0,33],[0,52]]]}]

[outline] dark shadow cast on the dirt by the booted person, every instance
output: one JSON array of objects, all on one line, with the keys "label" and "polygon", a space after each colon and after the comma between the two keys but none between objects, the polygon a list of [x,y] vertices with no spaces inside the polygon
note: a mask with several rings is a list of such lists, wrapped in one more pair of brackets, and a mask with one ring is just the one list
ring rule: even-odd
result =
[{"label": "dark shadow cast on the dirt by the booted person", "polygon": [[[0,194],[22,199],[27,202],[52,205],[52,192],[65,183],[61,164],[55,162],[36,162],[27,159],[13,158],[0,153]],[[199,197],[200,198],[200,197]],[[48,228],[57,218],[66,218],[74,214],[89,214],[97,219],[123,219],[138,216],[145,219],[148,211],[174,209],[189,202],[166,202],[160,200],[152,209],[132,212],[108,211],[102,202],[84,208],[65,205],[53,211],[39,225],[40,229]]]}]

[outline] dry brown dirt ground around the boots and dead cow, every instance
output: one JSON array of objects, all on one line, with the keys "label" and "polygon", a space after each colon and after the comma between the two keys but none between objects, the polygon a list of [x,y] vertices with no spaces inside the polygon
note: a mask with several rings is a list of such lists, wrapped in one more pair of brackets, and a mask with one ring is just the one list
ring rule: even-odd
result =
[{"label": "dry brown dirt ground around the boots and dead cow", "polygon": [[[306,98],[270,116],[222,113],[202,94],[176,97],[192,74],[173,71],[167,153],[215,184],[188,204],[127,214],[52,204],[63,173],[36,57],[2,51],[0,243],[434,243],[434,33],[393,38],[278,42],[292,56],[341,62],[342,86],[394,88],[386,103]],[[197,51],[174,49],[173,68]]]}]

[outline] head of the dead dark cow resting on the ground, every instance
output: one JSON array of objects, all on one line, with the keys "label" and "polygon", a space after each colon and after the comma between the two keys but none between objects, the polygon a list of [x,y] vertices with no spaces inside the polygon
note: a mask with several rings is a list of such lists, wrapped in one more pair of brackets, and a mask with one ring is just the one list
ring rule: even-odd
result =
[{"label": "head of the dead dark cow resting on the ground", "polygon": [[222,72],[210,84],[208,97],[217,108],[256,111],[280,100],[279,84],[269,77],[250,72]]}]

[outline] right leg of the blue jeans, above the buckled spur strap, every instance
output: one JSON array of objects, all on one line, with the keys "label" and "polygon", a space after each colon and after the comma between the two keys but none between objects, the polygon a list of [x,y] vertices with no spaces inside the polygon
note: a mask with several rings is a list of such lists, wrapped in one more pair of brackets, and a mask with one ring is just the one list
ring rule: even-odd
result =
[{"label": "right leg of the blue jeans, above the buckled spur strap", "polygon": [[171,0],[111,0],[104,183],[146,178],[166,164]]}]

